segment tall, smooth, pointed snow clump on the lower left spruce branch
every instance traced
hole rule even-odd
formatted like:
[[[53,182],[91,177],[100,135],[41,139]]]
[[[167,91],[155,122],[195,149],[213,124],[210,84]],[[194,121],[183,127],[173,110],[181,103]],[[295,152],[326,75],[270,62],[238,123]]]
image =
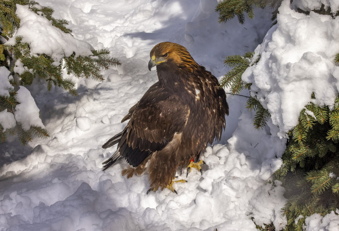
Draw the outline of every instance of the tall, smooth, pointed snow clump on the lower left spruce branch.
[[[31,126],[45,128],[39,118],[39,108],[27,88],[20,86],[15,99],[20,104],[15,106],[14,117],[24,130],[29,130]]]

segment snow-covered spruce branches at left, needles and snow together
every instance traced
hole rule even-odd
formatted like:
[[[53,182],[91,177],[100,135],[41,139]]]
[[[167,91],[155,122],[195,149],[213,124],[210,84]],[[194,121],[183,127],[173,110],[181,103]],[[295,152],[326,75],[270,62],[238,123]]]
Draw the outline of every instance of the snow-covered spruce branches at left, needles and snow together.
[[[55,19],[53,12],[51,7],[35,1],[0,2],[0,84],[3,85],[0,142],[6,141],[6,134],[17,134],[21,144],[27,144],[34,136],[49,137],[33,97],[23,87],[32,85],[36,77],[46,81],[48,90],[57,86],[77,95],[75,82],[71,76],[65,77],[66,74],[101,82],[104,80],[102,70],[121,65],[119,59],[109,56],[107,49],[97,51],[75,39],[70,34],[72,30],[66,27],[68,21]],[[18,95],[19,86],[21,93]],[[26,110],[32,107],[35,113],[26,114],[25,118]]]

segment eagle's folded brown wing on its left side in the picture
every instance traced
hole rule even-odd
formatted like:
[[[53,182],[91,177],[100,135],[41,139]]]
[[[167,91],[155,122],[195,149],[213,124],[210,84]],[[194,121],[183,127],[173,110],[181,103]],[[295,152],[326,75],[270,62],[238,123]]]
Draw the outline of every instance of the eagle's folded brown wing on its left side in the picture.
[[[176,132],[183,130],[190,108],[180,102],[178,95],[166,92],[157,83],[129,112],[130,120],[122,132],[119,152],[136,167],[153,152],[164,148]]]

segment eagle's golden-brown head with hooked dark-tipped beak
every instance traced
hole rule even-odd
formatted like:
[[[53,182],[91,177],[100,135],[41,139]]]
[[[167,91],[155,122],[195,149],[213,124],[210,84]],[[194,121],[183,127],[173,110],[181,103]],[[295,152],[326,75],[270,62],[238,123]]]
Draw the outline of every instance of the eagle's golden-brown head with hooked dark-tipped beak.
[[[200,67],[185,47],[174,42],[158,43],[154,46],[149,55],[151,56],[151,59],[148,62],[148,70],[151,70],[154,66],[176,66],[190,71]]]

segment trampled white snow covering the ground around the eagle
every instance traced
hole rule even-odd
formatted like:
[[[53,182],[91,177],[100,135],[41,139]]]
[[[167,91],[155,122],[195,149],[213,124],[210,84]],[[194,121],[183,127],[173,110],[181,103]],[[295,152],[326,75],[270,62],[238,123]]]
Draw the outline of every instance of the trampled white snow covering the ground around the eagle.
[[[147,69],[153,46],[163,41],[179,43],[219,79],[227,72],[223,65],[225,56],[253,51],[263,41],[271,25],[269,9],[256,10],[254,20],[240,25],[236,19],[226,24],[217,22],[216,0],[39,2],[52,6],[55,18],[69,20],[76,39],[95,49],[108,48],[112,56],[121,59],[122,66],[106,71],[103,83],[74,78],[79,93],[76,97],[58,88],[48,92],[39,83],[27,87],[51,137],[35,138],[27,146],[20,146],[15,137],[9,137],[7,143],[0,145],[1,231],[214,231],[215,228],[256,231],[253,217],[258,225],[273,222],[277,229],[284,227],[286,220],[280,212],[285,202],[284,189],[278,181],[275,188],[264,183],[280,167],[279,157],[286,139],[276,136],[281,131],[272,121],[263,130],[253,128],[253,114],[244,107],[245,97],[227,95],[230,116],[226,118],[223,137],[201,156],[208,165],[203,166],[202,176],[193,170],[186,178],[186,170],[177,171],[179,179],[188,181],[174,185],[178,195],[167,189],[146,195],[147,174],[127,180],[120,174],[120,164],[101,171],[101,162],[115,151],[115,147],[103,150],[101,145],[123,129],[125,123],[120,123],[123,116],[157,81],[156,71]],[[283,7],[281,17],[291,15],[298,20],[319,17],[311,14],[301,18],[286,2]],[[338,19],[331,19],[336,21],[331,24],[328,17],[319,18],[317,28],[320,25],[322,30],[326,28],[321,27],[321,22],[329,21],[327,30],[338,25]],[[42,36],[43,28],[40,26]],[[271,28],[263,44],[269,43],[275,30],[279,33],[278,29],[279,25]],[[283,31],[283,26],[280,29]],[[323,36],[319,43],[331,44],[329,41],[334,37],[335,34]],[[284,38],[284,43],[292,41],[288,36]],[[63,46],[53,40],[36,38],[36,42],[41,43],[37,48],[53,51]],[[258,46],[256,51],[260,49],[269,54],[265,45]],[[307,65],[318,59],[334,58],[332,54],[323,54],[318,59],[310,53],[303,56],[309,51],[305,49],[297,50],[296,57],[303,57]],[[339,49],[331,52],[338,53]],[[298,65],[294,69],[304,70],[302,63]],[[338,73],[335,69],[331,66],[331,71]],[[257,81],[258,75],[252,77]],[[260,89],[260,81],[257,83]],[[274,82],[269,84],[273,86]],[[0,90],[6,93],[5,88]],[[271,92],[270,87],[265,90],[263,94]],[[21,91],[31,99],[25,88]],[[9,127],[13,126],[12,117],[0,112],[0,119],[11,122]],[[306,225],[308,231],[335,231],[338,216],[331,213],[322,218],[314,214],[306,219]]]

